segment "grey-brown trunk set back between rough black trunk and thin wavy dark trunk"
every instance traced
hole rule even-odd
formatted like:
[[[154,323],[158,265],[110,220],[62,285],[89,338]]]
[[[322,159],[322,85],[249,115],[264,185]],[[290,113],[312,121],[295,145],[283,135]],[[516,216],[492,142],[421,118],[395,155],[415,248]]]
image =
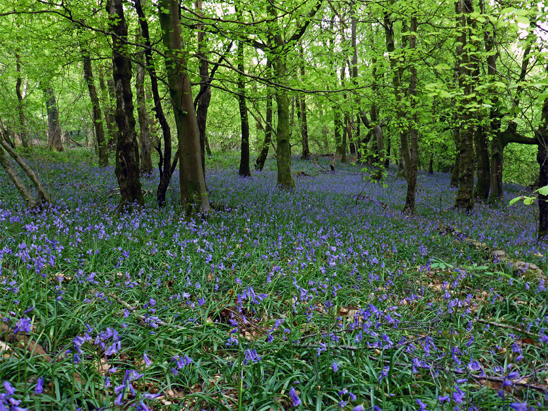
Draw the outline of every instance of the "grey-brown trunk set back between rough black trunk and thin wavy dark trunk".
[[[144,0],[136,0],[141,2],[141,6],[144,5]],[[140,42],[140,35],[136,36],[136,43]],[[135,76],[135,93],[137,100],[137,118],[139,119],[139,149],[141,152],[140,167],[141,173],[152,173],[152,158],[150,157],[150,130],[149,130],[149,113],[146,110],[145,99],[145,67],[143,63],[145,52],[139,50],[136,54],[137,67]]]

